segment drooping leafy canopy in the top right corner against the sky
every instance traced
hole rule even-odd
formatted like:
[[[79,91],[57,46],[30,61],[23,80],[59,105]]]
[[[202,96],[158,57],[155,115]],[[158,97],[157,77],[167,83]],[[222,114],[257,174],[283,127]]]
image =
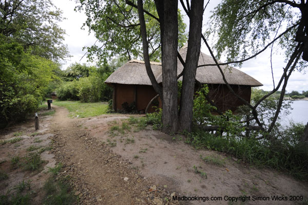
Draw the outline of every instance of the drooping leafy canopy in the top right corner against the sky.
[[[224,0],[213,11],[207,35],[214,34],[218,57],[225,54],[229,62],[258,53],[274,40],[288,58],[297,42],[303,42],[296,35],[307,32],[300,27],[307,21],[304,7],[304,1]],[[304,63],[299,61],[301,68]]]

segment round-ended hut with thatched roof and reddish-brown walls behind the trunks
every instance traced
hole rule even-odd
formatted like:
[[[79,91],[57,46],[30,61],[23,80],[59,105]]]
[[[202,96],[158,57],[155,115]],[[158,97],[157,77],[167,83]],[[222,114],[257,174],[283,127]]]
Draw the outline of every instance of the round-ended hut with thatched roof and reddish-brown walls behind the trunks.
[[[186,59],[187,46],[180,49],[183,60]],[[162,66],[158,62],[150,62],[153,74],[162,83]],[[204,53],[200,53],[199,65],[215,64],[213,58]],[[233,87],[238,95],[246,101],[250,101],[251,87],[262,86],[262,84],[248,74],[230,67],[221,66],[227,82]],[[183,70],[183,65],[178,61],[178,74]],[[217,66],[198,67],[196,79],[209,86],[209,97],[216,103],[222,111],[232,109],[233,111],[243,103],[239,101],[226,87],[222,75]],[[182,80],[181,78],[179,80]],[[113,108],[122,109],[122,104],[127,102],[136,103],[138,111],[145,110],[147,103],[156,96],[156,92],[151,86],[143,61],[131,60],[115,70],[105,83],[113,86]],[[156,105],[161,106],[160,101]],[[150,110],[150,111],[153,111]]]

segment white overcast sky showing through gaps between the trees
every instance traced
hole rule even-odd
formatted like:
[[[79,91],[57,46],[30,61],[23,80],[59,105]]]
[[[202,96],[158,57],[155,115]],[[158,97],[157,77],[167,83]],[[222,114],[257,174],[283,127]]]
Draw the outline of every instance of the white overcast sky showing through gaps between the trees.
[[[87,62],[86,56],[83,57],[86,51],[83,51],[82,48],[84,46],[91,46],[95,43],[96,38],[93,33],[88,32],[87,27],[82,30],[81,27],[83,23],[86,21],[86,15],[84,13],[75,12],[74,8],[76,3],[74,1],[69,0],[52,0],[54,5],[57,8],[60,8],[63,11],[63,17],[66,19],[63,22],[60,22],[59,25],[66,30],[65,41],[64,44],[67,44],[68,49],[70,51],[71,58],[66,59],[63,62],[62,69],[66,69],[72,63],[87,63],[92,64],[91,62]],[[220,1],[211,1],[207,6],[204,16],[203,16],[203,24],[205,23],[210,16],[210,10],[213,10]],[[179,4],[179,8],[181,10],[182,7]],[[184,16],[184,22],[187,24],[186,31],[188,32],[189,20],[187,16]],[[201,51],[209,54],[204,45],[201,47]],[[83,57],[83,58],[82,58]],[[275,85],[277,85],[282,69],[285,66],[284,56],[283,55],[273,55],[273,72],[274,72],[274,80]],[[260,87],[263,90],[272,90],[273,89],[273,79],[271,73],[271,64],[269,62],[269,51],[265,51],[260,54],[257,58],[251,59],[245,62],[241,68],[241,71],[249,74],[259,82],[263,84]],[[308,80],[307,74],[295,71],[292,73],[288,85],[286,87],[287,92],[291,92],[292,90],[302,91],[308,90]]]

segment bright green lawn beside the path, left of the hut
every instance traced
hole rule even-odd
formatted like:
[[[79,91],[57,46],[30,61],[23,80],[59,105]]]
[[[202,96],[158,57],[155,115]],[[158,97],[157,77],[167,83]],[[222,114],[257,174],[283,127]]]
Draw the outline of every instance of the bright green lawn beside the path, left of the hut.
[[[54,100],[53,104],[63,106],[70,112],[69,117],[86,118],[107,114],[108,104],[97,103],[81,103],[80,101],[58,101]]]

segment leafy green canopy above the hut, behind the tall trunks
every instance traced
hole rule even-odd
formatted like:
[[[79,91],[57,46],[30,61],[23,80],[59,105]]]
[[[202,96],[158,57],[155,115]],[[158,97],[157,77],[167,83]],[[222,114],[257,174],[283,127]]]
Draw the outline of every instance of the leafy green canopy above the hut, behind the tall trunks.
[[[123,0],[79,0],[80,5],[76,10],[85,10],[89,32],[94,32],[98,42],[102,45],[85,47],[88,58],[93,60],[96,55],[101,62],[113,57],[125,57],[127,60],[143,59],[140,24],[137,8],[130,6]],[[136,5],[136,2],[132,2]],[[158,18],[154,1],[146,0],[144,9]],[[147,41],[151,61],[160,61],[161,42],[160,25],[152,16],[145,13],[147,28]],[[179,47],[187,41],[185,34],[186,25],[178,11],[179,19]]]

